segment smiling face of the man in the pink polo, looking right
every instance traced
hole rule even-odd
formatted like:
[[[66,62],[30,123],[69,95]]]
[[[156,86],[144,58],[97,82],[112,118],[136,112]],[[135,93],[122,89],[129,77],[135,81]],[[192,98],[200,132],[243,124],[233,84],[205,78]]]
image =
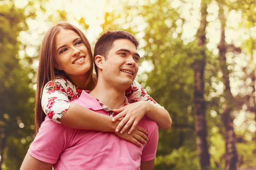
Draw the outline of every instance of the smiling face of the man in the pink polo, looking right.
[[[137,75],[139,59],[133,42],[127,39],[115,40],[102,65],[103,77],[112,84],[128,88]]]

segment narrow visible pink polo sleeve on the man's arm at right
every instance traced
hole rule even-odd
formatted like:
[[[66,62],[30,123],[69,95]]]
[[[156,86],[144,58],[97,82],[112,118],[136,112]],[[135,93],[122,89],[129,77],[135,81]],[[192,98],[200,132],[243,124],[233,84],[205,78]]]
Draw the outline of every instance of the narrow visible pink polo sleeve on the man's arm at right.
[[[141,161],[150,161],[156,157],[157,153],[157,144],[158,144],[158,126],[155,123],[154,131],[151,133],[151,136],[148,138],[146,146],[143,148]]]

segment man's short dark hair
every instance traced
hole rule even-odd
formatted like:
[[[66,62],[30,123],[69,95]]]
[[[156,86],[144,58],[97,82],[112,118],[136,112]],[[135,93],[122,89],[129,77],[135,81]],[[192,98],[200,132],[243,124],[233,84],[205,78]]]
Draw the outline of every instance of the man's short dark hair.
[[[113,48],[113,43],[115,40],[120,40],[120,39],[127,39],[130,40],[134,45],[136,46],[136,49],[139,46],[139,42],[136,40],[136,38],[126,32],[126,31],[108,31],[102,36],[99,37],[97,40],[95,47],[94,47],[94,53],[93,53],[93,60],[97,55],[101,55],[106,59],[108,59],[108,53]],[[96,71],[96,74],[98,74],[98,68],[97,65],[94,63],[94,68]]]

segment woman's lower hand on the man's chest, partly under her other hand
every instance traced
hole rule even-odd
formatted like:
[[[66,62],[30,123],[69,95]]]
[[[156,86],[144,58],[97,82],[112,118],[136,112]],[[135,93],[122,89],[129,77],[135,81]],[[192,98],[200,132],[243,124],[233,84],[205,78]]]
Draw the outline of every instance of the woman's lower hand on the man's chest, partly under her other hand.
[[[115,134],[120,138],[137,145],[138,147],[142,146],[141,143],[145,144],[148,141],[148,137],[146,136],[148,132],[142,127],[137,126],[131,134],[128,134],[127,131],[128,130],[122,134],[115,132]]]

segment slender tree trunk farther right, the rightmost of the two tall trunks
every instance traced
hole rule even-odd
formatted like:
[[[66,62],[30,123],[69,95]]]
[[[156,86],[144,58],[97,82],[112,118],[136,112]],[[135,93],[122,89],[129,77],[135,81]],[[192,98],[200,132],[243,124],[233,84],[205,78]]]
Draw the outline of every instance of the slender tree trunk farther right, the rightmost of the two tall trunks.
[[[226,19],[223,10],[223,1],[219,1],[219,18],[221,21],[221,40],[218,45],[219,63],[222,71],[222,81],[224,84],[225,102],[222,105],[222,121],[225,127],[225,170],[236,170],[237,152],[236,152],[236,134],[233,126],[233,102],[234,98],[230,91],[229,70],[226,63],[227,45],[225,42]]]

